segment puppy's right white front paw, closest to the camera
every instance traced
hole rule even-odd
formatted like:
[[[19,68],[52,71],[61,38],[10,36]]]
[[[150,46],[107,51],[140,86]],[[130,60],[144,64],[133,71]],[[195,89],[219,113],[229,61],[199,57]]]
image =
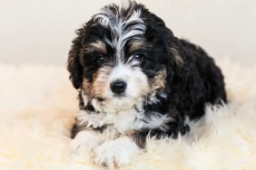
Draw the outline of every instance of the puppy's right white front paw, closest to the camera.
[[[129,137],[121,137],[97,146],[94,162],[96,165],[118,167],[129,164],[131,156],[138,151],[139,147]]]

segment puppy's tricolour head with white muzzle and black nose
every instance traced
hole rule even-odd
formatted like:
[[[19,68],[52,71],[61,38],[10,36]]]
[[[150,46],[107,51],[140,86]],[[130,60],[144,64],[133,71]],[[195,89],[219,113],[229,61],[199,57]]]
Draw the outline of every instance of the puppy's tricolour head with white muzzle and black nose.
[[[164,90],[170,63],[177,60],[172,32],[135,2],[105,6],[77,35],[67,62],[74,88],[116,109]]]

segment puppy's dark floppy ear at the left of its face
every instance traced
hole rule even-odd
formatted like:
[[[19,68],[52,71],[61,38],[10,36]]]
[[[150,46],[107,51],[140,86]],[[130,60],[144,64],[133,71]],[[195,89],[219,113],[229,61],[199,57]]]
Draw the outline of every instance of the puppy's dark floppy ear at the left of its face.
[[[81,35],[78,33],[78,37],[74,39],[71,50],[68,53],[67,61],[67,70],[70,72],[69,79],[72,81],[75,89],[81,87],[84,75],[84,69],[80,63],[81,48]]]

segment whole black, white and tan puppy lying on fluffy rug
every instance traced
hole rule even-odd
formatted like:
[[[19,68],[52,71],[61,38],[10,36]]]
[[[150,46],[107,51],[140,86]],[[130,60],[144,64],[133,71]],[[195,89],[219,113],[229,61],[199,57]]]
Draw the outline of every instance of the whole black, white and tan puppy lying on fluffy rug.
[[[74,150],[128,164],[146,137],[178,137],[206,103],[226,102],[222,71],[143,5],[107,5],[77,30],[67,69],[79,92]]]

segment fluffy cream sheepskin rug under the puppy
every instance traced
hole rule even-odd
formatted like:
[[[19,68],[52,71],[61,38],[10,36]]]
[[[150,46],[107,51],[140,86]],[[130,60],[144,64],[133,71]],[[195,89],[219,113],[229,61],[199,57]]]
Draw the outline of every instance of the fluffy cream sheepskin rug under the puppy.
[[[186,137],[148,139],[123,169],[256,168],[256,67],[218,63],[230,103],[206,107]],[[78,101],[64,67],[0,64],[0,80],[1,170],[99,168],[71,153]]]

